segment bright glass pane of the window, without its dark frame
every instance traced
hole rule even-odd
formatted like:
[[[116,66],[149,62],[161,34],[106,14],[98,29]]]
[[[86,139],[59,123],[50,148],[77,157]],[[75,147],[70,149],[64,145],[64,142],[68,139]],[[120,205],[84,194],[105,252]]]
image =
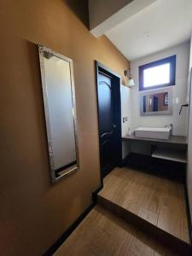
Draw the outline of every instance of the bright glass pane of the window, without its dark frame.
[[[168,83],[170,83],[170,63],[143,70],[144,87]]]

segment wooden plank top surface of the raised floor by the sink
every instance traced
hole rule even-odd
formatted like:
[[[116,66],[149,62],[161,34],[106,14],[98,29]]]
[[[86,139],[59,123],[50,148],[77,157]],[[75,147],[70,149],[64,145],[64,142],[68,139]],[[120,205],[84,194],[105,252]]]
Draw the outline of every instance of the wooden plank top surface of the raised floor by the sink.
[[[145,172],[115,168],[104,178],[99,195],[189,243],[183,184]]]

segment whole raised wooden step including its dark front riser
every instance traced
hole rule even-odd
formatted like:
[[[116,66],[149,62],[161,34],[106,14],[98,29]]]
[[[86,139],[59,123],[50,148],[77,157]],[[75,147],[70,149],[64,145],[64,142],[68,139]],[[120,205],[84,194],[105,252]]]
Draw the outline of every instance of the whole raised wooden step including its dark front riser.
[[[115,168],[97,195],[102,207],[137,225],[164,244],[188,253],[189,224],[182,183],[164,177]]]

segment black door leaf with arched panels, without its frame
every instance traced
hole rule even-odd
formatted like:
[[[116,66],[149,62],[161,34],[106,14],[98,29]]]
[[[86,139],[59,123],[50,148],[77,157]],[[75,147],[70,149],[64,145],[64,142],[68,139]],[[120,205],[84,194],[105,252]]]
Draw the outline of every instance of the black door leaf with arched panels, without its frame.
[[[115,166],[115,113],[112,79],[98,74],[99,139],[102,175]]]

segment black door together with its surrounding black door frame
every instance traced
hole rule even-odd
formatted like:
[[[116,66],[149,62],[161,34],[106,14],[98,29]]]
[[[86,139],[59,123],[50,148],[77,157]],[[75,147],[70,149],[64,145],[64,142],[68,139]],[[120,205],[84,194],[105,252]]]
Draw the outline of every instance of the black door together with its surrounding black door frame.
[[[104,177],[115,166],[119,166],[120,98],[119,79],[112,73],[104,73],[102,68],[99,69],[97,73],[99,143],[102,177]]]

